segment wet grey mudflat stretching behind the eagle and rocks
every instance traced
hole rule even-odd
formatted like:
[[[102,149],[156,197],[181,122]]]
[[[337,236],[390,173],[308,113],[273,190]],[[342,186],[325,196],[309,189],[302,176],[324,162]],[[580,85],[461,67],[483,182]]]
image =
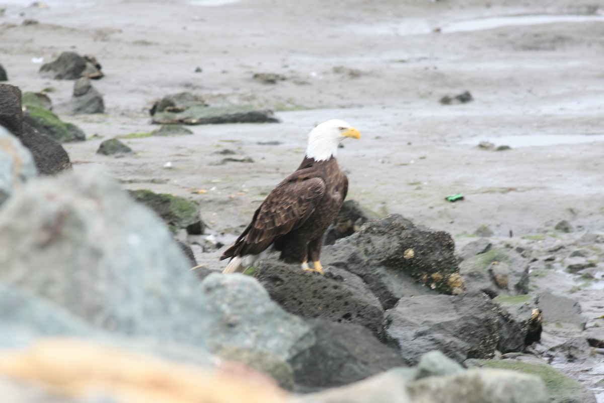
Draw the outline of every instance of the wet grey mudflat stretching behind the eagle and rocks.
[[[604,230],[604,6],[594,1],[346,2],[0,0],[0,63],[23,91],[63,51],[93,54],[107,113],[62,116],[74,169],[100,164],[129,189],[187,196],[216,233],[236,234],[301,161],[306,133],[330,118],[362,133],[338,160],[349,198],[400,213],[463,243],[496,236]],[[25,19],[37,25],[21,25]],[[196,68],[201,73],[195,73]],[[274,85],[254,73],[286,77]],[[470,91],[474,102],[444,106]],[[273,108],[279,124],[191,126],[194,134],[124,140],[136,155],[96,155],[102,140],[155,129],[148,109],[191,91],[211,105]],[[477,147],[489,140],[510,150]],[[259,144],[279,142],[278,145]],[[231,149],[254,163],[226,163]],[[167,169],[164,164],[172,163]],[[206,193],[193,193],[205,190]],[[445,196],[463,193],[455,204]],[[219,267],[212,259],[208,266]]]

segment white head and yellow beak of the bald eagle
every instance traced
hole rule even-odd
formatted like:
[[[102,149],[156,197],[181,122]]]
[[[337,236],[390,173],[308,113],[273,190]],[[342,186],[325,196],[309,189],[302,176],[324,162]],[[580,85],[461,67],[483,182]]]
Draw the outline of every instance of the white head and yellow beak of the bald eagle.
[[[347,137],[361,138],[361,133],[344,120],[332,119],[319,124],[308,134],[306,156],[325,161],[335,156],[339,143]]]

